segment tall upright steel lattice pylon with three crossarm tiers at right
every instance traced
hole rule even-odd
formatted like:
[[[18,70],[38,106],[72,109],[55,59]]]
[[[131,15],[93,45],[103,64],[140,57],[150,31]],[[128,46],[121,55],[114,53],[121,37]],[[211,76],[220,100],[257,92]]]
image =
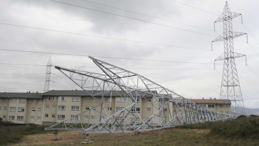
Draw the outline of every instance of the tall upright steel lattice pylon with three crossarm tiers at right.
[[[227,104],[220,106],[231,108],[233,113],[245,114],[243,97],[235,64],[235,58],[243,57],[245,55],[234,52],[233,38],[247,35],[247,33],[233,32],[232,29],[232,19],[240,15],[241,14],[231,12],[228,2],[226,2],[223,13],[214,22],[214,26],[217,22],[223,22],[223,33],[212,42],[224,41],[224,53],[215,59],[215,61],[224,60],[220,99],[226,99],[226,103],[227,100],[231,100],[231,107]]]

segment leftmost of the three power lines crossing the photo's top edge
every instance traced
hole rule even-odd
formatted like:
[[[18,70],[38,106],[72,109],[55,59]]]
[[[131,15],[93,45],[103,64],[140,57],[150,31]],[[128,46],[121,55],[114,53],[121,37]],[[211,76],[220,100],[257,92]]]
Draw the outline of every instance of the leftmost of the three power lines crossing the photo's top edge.
[[[202,33],[202,32],[195,32],[195,31],[188,30],[188,29],[182,29],[182,28],[173,27],[173,26],[164,25],[164,24],[155,23],[155,22],[150,22],[150,21],[146,21],[146,20],[142,20],[142,19],[127,17],[127,16],[123,16],[123,15],[119,15],[119,14],[105,12],[105,11],[101,11],[101,10],[97,10],[97,9],[91,9],[91,8],[87,8],[87,7],[83,7],[83,6],[78,6],[78,5],[74,5],[74,4],[68,4],[68,3],[65,3],[65,2],[61,2],[61,1],[54,1],[54,0],[49,0],[49,1],[57,2],[57,3],[60,3],[60,4],[66,4],[66,5],[70,5],[70,6],[76,6],[76,7],[79,7],[79,8],[88,9],[88,10],[92,10],[92,11],[96,11],[96,12],[111,14],[111,15],[114,15],[114,16],[124,17],[124,18],[132,19],[132,20],[142,21],[142,22],[146,22],[146,23],[150,23],[150,24],[155,24],[155,25],[160,25],[160,26],[164,26],[164,27],[170,27],[170,28],[174,28],[174,29],[179,29],[179,30],[183,30],[183,31],[187,31],[187,32],[193,32],[193,33],[197,33],[197,34],[200,34],[200,35],[207,35],[207,36],[211,36],[211,37],[216,37],[214,35],[209,35],[209,34],[205,34],[205,33]]]

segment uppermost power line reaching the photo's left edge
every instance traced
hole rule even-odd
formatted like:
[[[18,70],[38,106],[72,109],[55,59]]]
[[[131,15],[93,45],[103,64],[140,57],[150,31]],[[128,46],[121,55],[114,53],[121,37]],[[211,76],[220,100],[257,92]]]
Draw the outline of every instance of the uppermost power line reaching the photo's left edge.
[[[119,40],[119,41],[127,41],[127,42],[137,42],[142,44],[151,44],[151,45],[161,45],[161,46],[167,46],[167,47],[178,47],[178,48],[186,48],[186,49],[195,49],[195,50],[206,50],[210,51],[211,49],[200,49],[200,48],[192,48],[192,47],[182,47],[177,45],[167,45],[167,44],[160,44],[160,43],[152,43],[152,42],[143,42],[143,41],[137,41],[137,40],[127,40],[127,39],[119,39],[114,37],[103,37],[99,35],[89,35],[89,34],[83,34],[83,33],[75,33],[75,32],[66,32],[66,31],[60,31],[60,30],[54,30],[54,29],[45,29],[45,28],[38,28],[38,27],[29,27],[24,25],[16,25],[16,24],[8,24],[8,23],[0,23],[3,25],[9,25],[9,26],[16,26],[16,27],[25,27],[25,28],[31,28],[31,29],[39,29],[39,30],[47,30],[52,32],[61,32],[61,33],[67,33],[67,34],[73,34],[73,35],[83,35],[83,36],[89,36],[89,37],[99,37],[104,39],[110,39],[110,40]],[[80,55],[78,55],[80,56]]]

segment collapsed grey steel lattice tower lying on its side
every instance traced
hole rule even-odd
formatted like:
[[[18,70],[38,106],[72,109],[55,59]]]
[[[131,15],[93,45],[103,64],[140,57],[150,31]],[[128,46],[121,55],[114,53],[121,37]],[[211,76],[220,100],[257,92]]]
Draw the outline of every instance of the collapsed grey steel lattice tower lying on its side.
[[[144,76],[93,57],[89,58],[104,74],[58,66],[55,68],[94,99],[95,106],[71,115],[45,130],[83,130],[87,133],[141,132],[237,117],[208,111]],[[115,95],[124,105],[118,109],[116,107],[116,111],[111,111],[109,107]],[[142,107],[142,101],[148,101],[152,106],[152,114],[142,115],[138,110]],[[86,116],[93,117],[94,123],[90,123],[89,118],[84,118]]]

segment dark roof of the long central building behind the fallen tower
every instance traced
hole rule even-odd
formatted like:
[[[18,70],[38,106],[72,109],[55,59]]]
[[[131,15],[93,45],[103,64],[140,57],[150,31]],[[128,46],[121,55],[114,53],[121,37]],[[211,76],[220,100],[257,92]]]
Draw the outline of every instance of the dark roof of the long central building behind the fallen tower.
[[[87,93],[88,92],[88,93]],[[51,90],[48,92],[43,93],[43,96],[90,96],[90,94],[93,94],[95,96],[102,96],[102,91],[83,91],[83,90]],[[152,91],[153,93],[156,93],[155,91]],[[90,93],[90,94],[89,94]],[[110,96],[111,91],[104,91],[104,96]],[[135,95],[135,92],[131,92],[132,95]],[[124,96],[124,92],[119,90],[119,91],[112,91],[112,96]],[[144,95],[144,93],[139,92],[139,95]],[[147,94],[148,95],[148,94]]]

